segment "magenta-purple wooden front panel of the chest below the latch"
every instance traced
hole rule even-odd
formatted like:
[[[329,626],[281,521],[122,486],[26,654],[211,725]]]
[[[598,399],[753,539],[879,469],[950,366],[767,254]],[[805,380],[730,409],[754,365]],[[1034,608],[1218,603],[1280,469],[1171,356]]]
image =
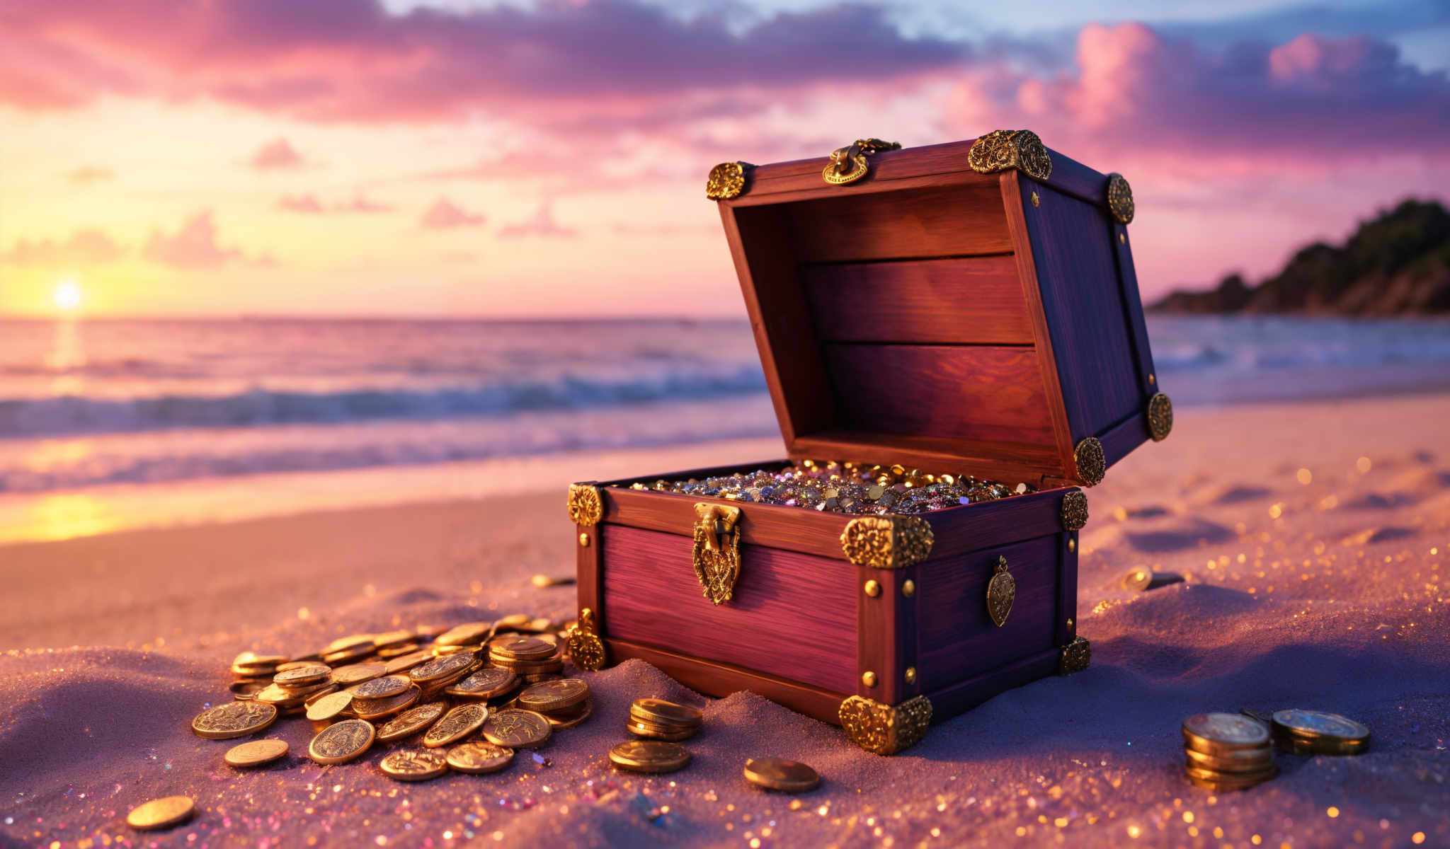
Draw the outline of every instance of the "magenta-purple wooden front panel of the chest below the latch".
[[[690,538],[618,524],[602,536],[612,637],[856,691],[857,587],[842,561],[741,545],[734,598],[715,606],[695,578]]]

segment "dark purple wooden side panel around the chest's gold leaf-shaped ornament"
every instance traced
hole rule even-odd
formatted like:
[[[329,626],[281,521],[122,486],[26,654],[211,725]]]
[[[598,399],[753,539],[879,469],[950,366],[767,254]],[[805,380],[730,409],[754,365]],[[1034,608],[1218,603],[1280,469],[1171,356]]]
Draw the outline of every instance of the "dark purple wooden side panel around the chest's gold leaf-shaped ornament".
[[[1057,645],[1058,536],[918,565],[918,674],[928,693]],[[987,616],[987,581],[1005,556],[1016,601],[1002,627]]]

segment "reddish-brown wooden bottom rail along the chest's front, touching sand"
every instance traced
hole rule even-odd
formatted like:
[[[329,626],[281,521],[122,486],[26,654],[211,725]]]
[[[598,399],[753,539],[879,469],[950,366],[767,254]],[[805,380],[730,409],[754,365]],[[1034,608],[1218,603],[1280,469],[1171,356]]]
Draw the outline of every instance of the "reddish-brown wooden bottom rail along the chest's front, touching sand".
[[[753,669],[742,669],[729,664],[712,664],[629,640],[609,639],[605,642],[609,648],[609,659],[613,664],[638,658],[657,666],[666,675],[690,690],[706,695],[725,697],[731,693],[748,690],[824,723],[841,724],[840,710],[841,703],[845,701],[845,695],[840,693],[806,687],[796,681],[766,675]]]

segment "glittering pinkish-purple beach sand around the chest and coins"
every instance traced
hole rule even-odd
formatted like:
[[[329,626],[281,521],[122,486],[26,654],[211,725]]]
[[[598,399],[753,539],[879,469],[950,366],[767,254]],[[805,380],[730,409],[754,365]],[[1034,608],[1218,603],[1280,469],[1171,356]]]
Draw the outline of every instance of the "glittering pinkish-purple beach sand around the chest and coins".
[[[1180,410],[1089,491],[1077,632],[1092,666],[1005,693],[895,758],[753,694],[695,695],[631,661],[594,714],[499,775],[396,784],[365,759],[238,772],[190,719],[242,649],[513,611],[568,617],[563,493],[370,507],[0,548],[0,835],[22,846],[1427,846],[1450,845],[1450,396]],[[703,456],[703,452],[702,452]],[[664,468],[639,468],[657,474]],[[592,477],[580,468],[579,478]],[[265,497],[264,491],[258,497]],[[1125,572],[1180,572],[1135,593]],[[613,772],[632,698],[700,706],[695,762]],[[1280,755],[1214,795],[1180,775],[1192,713],[1311,707],[1367,755]],[[822,787],[753,790],[747,756]],[[196,819],[125,826],[186,794]],[[799,804],[798,804],[799,803]],[[666,811],[667,813],[661,813]],[[758,840],[758,843],[757,843]]]

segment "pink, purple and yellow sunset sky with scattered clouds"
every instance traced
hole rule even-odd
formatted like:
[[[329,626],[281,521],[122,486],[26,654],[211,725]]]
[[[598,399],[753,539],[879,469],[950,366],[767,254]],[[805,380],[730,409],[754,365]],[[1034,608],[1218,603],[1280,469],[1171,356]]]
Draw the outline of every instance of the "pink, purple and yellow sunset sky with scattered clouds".
[[[1151,298],[1450,194],[1447,68],[1436,0],[4,0],[0,313],[740,314],[710,165],[998,127]]]

